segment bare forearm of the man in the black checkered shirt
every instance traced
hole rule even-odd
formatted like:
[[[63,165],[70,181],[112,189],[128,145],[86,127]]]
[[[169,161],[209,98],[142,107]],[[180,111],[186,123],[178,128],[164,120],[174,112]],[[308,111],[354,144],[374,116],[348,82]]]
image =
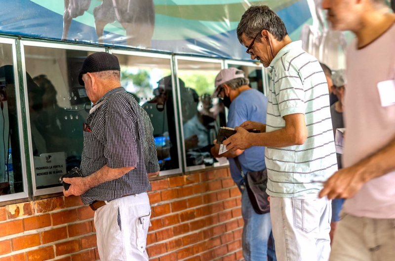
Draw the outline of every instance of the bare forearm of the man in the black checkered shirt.
[[[133,168],[134,167],[110,168],[104,165],[101,169],[86,177],[86,186],[88,189],[91,189],[104,182],[118,179]]]

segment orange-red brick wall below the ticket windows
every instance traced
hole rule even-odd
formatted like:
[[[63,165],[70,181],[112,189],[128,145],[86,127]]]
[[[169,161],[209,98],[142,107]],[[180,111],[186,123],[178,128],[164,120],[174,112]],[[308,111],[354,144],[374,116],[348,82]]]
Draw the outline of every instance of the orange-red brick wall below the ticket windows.
[[[151,261],[242,260],[241,197],[229,169],[151,184]],[[0,261],[99,260],[93,214],[79,197],[1,207]]]

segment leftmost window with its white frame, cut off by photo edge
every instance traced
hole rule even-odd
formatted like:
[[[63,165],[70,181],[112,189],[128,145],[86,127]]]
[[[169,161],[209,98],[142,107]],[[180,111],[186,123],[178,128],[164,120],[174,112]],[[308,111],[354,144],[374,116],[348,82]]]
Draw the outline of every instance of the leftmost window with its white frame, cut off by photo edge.
[[[20,105],[15,40],[0,38],[0,201],[28,196]]]

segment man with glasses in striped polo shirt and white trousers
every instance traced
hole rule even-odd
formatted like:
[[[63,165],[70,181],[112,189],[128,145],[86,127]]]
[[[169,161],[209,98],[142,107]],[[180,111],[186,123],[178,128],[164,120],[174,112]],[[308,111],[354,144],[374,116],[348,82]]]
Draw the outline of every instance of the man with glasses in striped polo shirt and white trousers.
[[[267,5],[244,13],[237,36],[252,60],[270,66],[272,83],[266,125],[247,121],[224,144],[233,150],[266,146],[277,260],[327,261],[331,203],[318,197],[319,181],[337,170],[337,162],[325,74]]]

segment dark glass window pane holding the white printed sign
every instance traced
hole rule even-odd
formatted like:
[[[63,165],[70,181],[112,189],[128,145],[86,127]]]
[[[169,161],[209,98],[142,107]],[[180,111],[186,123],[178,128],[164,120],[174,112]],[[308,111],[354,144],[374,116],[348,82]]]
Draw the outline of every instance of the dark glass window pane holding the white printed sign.
[[[93,52],[25,46],[30,127],[37,189],[61,186],[59,177],[79,167],[82,124],[91,102],[78,74]]]

